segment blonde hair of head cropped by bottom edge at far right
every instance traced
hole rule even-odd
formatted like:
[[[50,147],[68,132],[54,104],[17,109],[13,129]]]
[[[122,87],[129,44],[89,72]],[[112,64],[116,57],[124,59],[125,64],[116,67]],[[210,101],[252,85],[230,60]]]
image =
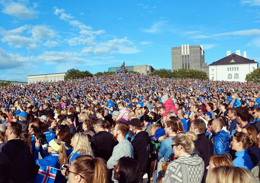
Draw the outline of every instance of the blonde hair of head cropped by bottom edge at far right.
[[[206,183],[256,183],[252,173],[245,168],[233,166],[214,167],[208,171]]]

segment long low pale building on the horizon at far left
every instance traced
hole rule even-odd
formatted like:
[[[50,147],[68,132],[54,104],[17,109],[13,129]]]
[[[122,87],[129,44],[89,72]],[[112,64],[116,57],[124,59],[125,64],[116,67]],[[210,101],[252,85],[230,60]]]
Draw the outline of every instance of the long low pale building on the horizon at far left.
[[[27,76],[28,84],[35,84],[37,82],[49,83],[49,82],[59,82],[64,80],[66,73],[56,73],[56,74],[42,74],[42,75],[31,75]]]

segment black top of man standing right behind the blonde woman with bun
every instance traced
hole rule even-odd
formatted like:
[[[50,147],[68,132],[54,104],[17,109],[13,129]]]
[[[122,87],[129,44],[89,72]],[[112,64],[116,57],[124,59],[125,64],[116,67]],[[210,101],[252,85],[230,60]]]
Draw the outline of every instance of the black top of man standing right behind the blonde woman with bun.
[[[205,164],[204,175],[207,174],[206,167],[209,166],[209,158],[213,155],[214,147],[208,138],[206,138],[205,134],[198,134],[198,139],[194,142],[195,144],[195,153],[198,154],[200,158],[203,159]]]

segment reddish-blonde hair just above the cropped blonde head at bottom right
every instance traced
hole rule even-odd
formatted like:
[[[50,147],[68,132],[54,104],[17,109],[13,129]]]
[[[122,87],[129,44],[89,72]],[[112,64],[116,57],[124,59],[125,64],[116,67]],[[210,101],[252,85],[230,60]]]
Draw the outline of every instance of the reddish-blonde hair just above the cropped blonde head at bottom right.
[[[209,158],[209,161],[212,161],[215,167],[219,166],[234,166],[230,154],[216,154]]]

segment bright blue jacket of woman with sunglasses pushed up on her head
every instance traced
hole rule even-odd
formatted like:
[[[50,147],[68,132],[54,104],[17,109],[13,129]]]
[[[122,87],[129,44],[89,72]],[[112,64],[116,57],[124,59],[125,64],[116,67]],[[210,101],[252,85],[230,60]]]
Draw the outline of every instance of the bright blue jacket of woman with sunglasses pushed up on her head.
[[[237,156],[233,160],[235,167],[247,168],[249,171],[251,171],[254,168],[251,158],[247,154],[247,149],[238,151],[235,153],[235,155]]]

